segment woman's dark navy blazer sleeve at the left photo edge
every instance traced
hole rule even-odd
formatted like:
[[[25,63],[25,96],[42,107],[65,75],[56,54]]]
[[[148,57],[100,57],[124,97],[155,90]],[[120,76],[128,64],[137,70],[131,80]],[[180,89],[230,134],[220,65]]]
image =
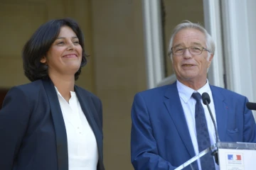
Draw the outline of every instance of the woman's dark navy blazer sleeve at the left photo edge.
[[[26,94],[18,87],[10,89],[0,110],[0,169],[13,169],[29,115]]]

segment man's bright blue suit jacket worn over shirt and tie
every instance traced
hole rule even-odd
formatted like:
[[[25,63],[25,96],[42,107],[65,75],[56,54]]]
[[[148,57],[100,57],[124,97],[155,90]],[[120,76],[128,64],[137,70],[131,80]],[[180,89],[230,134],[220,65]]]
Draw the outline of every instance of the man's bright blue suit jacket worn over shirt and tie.
[[[210,86],[220,141],[256,142],[247,98]],[[175,169],[196,154],[176,83],[142,91],[132,105],[131,157],[136,170]]]

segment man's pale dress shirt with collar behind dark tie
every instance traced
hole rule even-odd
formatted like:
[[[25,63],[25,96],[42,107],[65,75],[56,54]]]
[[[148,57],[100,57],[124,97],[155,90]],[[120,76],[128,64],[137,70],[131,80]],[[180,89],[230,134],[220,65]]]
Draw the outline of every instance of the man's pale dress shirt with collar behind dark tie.
[[[178,95],[181,99],[181,105],[185,114],[186,123],[188,125],[189,134],[191,135],[191,140],[193,143],[193,148],[195,150],[196,155],[199,154],[198,151],[198,142],[196,138],[196,120],[195,120],[195,107],[196,107],[196,100],[192,97],[193,92],[196,92],[195,90],[191,89],[188,86],[185,86],[180,81],[177,80],[177,89],[178,89]],[[213,113],[213,118],[216,122],[216,115],[215,115],[215,108],[214,108],[214,102],[213,102],[213,95],[210,91],[210,86],[208,83],[208,80],[206,84],[197,91],[199,94],[203,94],[203,92],[207,92],[210,96],[210,110]],[[213,121],[210,118],[210,113],[208,111],[208,108],[206,105],[203,104],[203,101],[201,100],[201,103],[203,105],[203,110],[206,114],[206,122],[208,126],[208,131],[210,135],[210,144],[213,145],[216,142],[216,136],[215,136],[215,129],[213,125]],[[217,125],[217,123],[216,123]],[[210,146],[209,146],[210,147]],[[201,164],[198,161],[199,169],[201,169]],[[219,167],[217,164],[215,164],[215,169],[218,170]]]

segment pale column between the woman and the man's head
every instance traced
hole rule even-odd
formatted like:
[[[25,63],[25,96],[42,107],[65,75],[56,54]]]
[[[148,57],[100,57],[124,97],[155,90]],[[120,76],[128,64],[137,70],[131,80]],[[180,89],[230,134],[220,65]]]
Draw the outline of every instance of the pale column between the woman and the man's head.
[[[159,0],[143,0],[144,42],[148,89],[164,79],[164,52]]]

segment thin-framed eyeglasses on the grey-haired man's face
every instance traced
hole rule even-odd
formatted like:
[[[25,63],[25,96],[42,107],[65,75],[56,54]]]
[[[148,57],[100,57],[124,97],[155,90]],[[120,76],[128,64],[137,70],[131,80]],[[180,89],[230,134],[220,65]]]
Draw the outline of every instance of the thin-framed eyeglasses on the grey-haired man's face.
[[[171,48],[171,53],[173,55],[183,55],[184,52],[188,49],[188,51],[191,53],[191,55],[201,55],[203,51],[208,51],[205,47],[196,47],[196,46],[191,46],[191,47],[172,47]]]

